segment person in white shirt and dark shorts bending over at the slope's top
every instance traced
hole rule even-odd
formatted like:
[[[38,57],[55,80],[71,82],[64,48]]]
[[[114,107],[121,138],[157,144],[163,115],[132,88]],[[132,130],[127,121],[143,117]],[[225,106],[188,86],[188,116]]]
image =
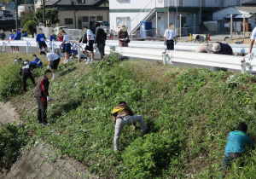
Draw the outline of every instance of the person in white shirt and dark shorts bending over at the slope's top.
[[[41,58],[47,58],[49,61],[47,69],[49,69],[49,67],[50,67],[53,72],[53,77],[51,80],[53,80],[54,78],[57,78],[56,69],[58,68],[58,65],[61,61],[60,57],[58,55],[56,55],[55,53],[47,53],[46,54],[44,51],[42,51],[40,53],[40,55],[41,55]]]

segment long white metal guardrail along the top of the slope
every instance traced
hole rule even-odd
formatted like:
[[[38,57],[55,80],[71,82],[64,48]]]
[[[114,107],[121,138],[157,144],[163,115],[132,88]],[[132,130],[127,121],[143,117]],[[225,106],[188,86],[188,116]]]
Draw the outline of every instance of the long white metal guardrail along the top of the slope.
[[[256,71],[256,61],[253,59],[245,59],[245,57],[235,56],[235,55],[213,55],[213,54],[203,54],[203,53],[194,53],[189,51],[176,51],[176,50],[167,50],[166,49],[152,49],[152,48],[143,48],[142,46],[147,45],[148,42],[131,42],[140,47],[119,47],[118,41],[108,41],[105,47],[105,53],[110,54],[111,51],[116,51],[121,55],[130,56],[134,58],[143,58],[149,60],[163,61],[163,63],[170,64],[172,62],[182,62],[202,66],[218,66],[231,68],[236,70],[241,70],[241,72],[251,72]],[[109,44],[110,43],[110,44]],[[113,45],[113,43],[117,43]],[[50,49],[55,52],[55,49],[59,49],[61,42],[47,42]],[[81,55],[81,48],[84,48],[85,44],[74,43],[78,48],[79,61]],[[162,43],[155,42],[154,45],[162,45]],[[182,46],[183,44],[176,45]],[[6,46],[26,46],[26,53],[29,53],[29,48],[38,47],[34,38],[24,38],[24,40],[19,41],[0,41],[0,46],[3,46],[3,52],[5,52]],[[184,46],[183,46],[184,47]],[[196,44],[190,44],[185,46],[185,48],[197,48]],[[241,45],[232,45],[235,49],[247,50],[242,48]],[[246,46],[247,47],[247,46]],[[242,48],[242,49],[241,49]],[[256,49],[255,51],[256,52]],[[218,56],[218,58],[217,58]]]

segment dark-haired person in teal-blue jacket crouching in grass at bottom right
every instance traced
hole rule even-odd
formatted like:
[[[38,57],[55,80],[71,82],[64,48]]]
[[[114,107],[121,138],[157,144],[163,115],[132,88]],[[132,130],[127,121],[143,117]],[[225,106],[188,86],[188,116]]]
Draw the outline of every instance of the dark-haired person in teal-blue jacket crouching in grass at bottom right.
[[[240,123],[238,124],[237,130],[230,132],[224,151],[222,171],[226,170],[234,159],[242,157],[243,153],[246,152],[247,145],[253,150],[255,149],[253,141],[247,136],[247,129],[247,124]]]

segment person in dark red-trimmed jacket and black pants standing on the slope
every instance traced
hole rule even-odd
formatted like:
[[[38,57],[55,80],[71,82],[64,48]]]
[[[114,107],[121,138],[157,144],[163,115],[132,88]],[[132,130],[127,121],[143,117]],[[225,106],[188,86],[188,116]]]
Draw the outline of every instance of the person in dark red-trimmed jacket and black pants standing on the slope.
[[[38,84],[35,91],[35,97],[38,101],[38,123],[47,125],[47,101],[50,101],[49,98],[49,78],[52,77],[52,72],[46,70],[44,76],[38,78]]]

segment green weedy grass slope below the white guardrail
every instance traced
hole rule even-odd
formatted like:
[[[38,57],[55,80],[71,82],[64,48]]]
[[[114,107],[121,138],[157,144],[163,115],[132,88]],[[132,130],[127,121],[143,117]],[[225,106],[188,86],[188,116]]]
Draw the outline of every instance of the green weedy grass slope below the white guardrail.
[[[255,78],[145,61],[107,65],[62,67],[49,87],[48,127],[36,123],[33,89],[12,98],[26,129],[106,178],[216,177],[226,137],[240,121],[255,141]],[[141,130],[125,126],[114,153],[110,113],[123,100],[151,132],[138,136]],[[233,165],[227,178],[253,178],[255,163],[248,152],[245,167]]]

